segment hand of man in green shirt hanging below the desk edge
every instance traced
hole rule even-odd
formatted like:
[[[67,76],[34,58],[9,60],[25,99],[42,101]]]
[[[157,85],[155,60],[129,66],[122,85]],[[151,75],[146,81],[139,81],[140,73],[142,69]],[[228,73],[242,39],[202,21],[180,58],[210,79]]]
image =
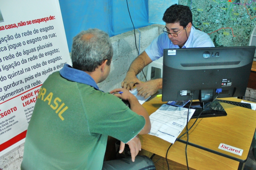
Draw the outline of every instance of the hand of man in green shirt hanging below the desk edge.
[[[129,148],[130,148],[130,152],[131,152],[131,156],[132,156],[132,162],[134,162],[135,157],[137,156],[139,151],[141,151],[140,138],[137,135],[134,138],[132,138],[132,140],[127,142],[127,144],[129,145]],[[124,145],[125,144],[121,141],[119,153],[122,153],[124,151]]]

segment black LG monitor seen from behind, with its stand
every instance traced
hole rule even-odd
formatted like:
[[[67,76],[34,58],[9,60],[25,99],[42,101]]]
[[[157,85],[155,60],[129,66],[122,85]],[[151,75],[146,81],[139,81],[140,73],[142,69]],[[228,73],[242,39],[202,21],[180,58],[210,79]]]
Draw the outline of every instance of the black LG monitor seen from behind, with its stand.
[[[162,101],[191,100],[193,94],[193,100],[199,100],[204,108],[217,96],[216,89],[221,89],[218,98],[244,96],[255,48],[164,49]],[[220,110],[212,109],[202,115],[218,116],[217,112]]]

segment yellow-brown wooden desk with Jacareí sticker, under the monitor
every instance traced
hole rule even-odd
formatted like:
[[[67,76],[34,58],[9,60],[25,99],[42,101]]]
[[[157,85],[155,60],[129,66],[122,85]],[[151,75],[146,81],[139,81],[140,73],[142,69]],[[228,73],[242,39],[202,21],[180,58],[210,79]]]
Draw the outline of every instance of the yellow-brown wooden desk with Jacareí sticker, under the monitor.
[[[149,115],[154,113],[162,104],[161,97],[155,97],[145,102]],[[224,100],[241,101],[236,98]],[[227,116],[200,118],[189,131],[187,148],[188,165],[194,169],[243,169],[256,128],[256,111],[221,103]],[[196,119],[188,122],[190,127]],[[181,134],[185,132],[185,129]],[[184,135],[182,140],[186,141]],[[165,158],[170,143],[151,135],[140,135],[142,149]],[[218,149],[220,143],[243,149],[242,156]],[[175,142],[168,152],[168,159],[186,165],[185,145]]]

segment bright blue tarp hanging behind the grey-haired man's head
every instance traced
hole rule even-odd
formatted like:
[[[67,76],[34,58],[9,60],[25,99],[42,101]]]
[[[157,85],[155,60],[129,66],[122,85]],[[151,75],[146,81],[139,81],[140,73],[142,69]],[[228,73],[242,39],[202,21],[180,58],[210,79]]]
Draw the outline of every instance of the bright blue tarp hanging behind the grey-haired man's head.
[[[71,50],[72,39],[82,30],[98,28],[114,36],[133,30],[132,22],[138,28],[151,25],[148,23],[148,1],[128,0],[60,0],[60,9],[68,49]]]

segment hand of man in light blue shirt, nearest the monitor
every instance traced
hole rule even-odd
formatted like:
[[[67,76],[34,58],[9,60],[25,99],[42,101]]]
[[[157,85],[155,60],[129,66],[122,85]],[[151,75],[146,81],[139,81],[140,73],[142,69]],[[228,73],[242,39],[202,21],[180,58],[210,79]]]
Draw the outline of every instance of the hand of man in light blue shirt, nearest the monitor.
[[[155,94],[158,89],[162,89],[162,78],[150,80],[145,83],[136,85],[139,96],[147,99],[149,96]]]

